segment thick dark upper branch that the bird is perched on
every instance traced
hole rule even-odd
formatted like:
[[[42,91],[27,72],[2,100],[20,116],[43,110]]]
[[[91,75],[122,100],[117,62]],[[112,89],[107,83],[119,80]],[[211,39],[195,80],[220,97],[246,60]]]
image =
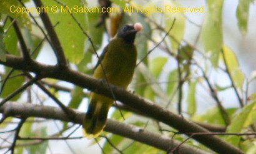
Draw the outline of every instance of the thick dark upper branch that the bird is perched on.
[[[94,79],[89,75],[82,74],[76,70],[71,70],[69,68],[59,69],[57,66],[44,65],[32,60],[31,65],[26,65],[26,62],[20,57],[15,57],[13,55],[6,55],[6,62],[0,60],[0,64],[7,65],[9,67],[14,67],[15,69],[21,69],[29,72],[34,72],[36,74],[41,74],[43,77],[50,77],[53,79],[64,80],[71,82],[72,84],[79,85],[86,89],[97,92],[98,94],[106,95],[112,98],[112,93],[106,83],[101,80]],[[141,97],[127,92],[125,89],[116,87],[112,84],[112,92],[117,100],[120,100],[124,104],[132,108],[137,108],[140,112],[145,113],[148,117],[154,118],[159,122],[163,122],[170,127],[174,127],[183,133],[209,133],[205,128],[199,127],[193,122],[185,120],[183,117],[176,115],[165,108],[156,105],[149,100],[144,100]],[[225,142],[216,136],[199,135],[193,137],[198,142],[204,144],[205,146],[211,148],[217,153],[244,153],[239,148],[234,147],[230,143]]]

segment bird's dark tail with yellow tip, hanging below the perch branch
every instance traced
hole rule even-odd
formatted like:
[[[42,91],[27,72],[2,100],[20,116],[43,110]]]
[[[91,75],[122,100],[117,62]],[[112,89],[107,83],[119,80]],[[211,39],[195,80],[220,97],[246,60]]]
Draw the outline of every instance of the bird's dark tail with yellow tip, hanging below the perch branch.
[[[100,135],[107,122],[107,113],[112,103],[91,100],[84,118],[84,135],[96,138]]]

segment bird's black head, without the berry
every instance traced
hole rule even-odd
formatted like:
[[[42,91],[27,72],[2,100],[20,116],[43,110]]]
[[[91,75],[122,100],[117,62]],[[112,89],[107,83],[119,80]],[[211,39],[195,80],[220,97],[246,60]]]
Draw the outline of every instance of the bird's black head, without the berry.
[[[134,26],[125,25],[119,30],[117,37],[124,39],[126,42],[133,43],[137,32]]]

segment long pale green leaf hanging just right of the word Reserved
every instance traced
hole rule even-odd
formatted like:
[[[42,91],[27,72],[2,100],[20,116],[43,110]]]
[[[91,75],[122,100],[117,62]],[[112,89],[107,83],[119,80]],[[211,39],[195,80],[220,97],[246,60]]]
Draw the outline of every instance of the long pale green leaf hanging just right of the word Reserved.
[[[202,39],[205,51],[210,52],[210,60],[214,67],[219,64],[219,54],[223,44],[222,34],[223,0],[209,0],[202,26]]]

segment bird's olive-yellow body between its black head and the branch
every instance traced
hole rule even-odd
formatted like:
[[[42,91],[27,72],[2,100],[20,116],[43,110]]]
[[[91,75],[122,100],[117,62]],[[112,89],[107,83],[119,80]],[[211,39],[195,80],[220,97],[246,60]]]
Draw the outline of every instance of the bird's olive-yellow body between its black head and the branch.
[[[106,47],[107,52],[94,71],[93,77],[105,79],[119,87],[127,88],[132,80],[137,59],[137,51],[133,43],[125,42],[121,38],[116,38]],[[106,50],[106,49],[105,49]]]

